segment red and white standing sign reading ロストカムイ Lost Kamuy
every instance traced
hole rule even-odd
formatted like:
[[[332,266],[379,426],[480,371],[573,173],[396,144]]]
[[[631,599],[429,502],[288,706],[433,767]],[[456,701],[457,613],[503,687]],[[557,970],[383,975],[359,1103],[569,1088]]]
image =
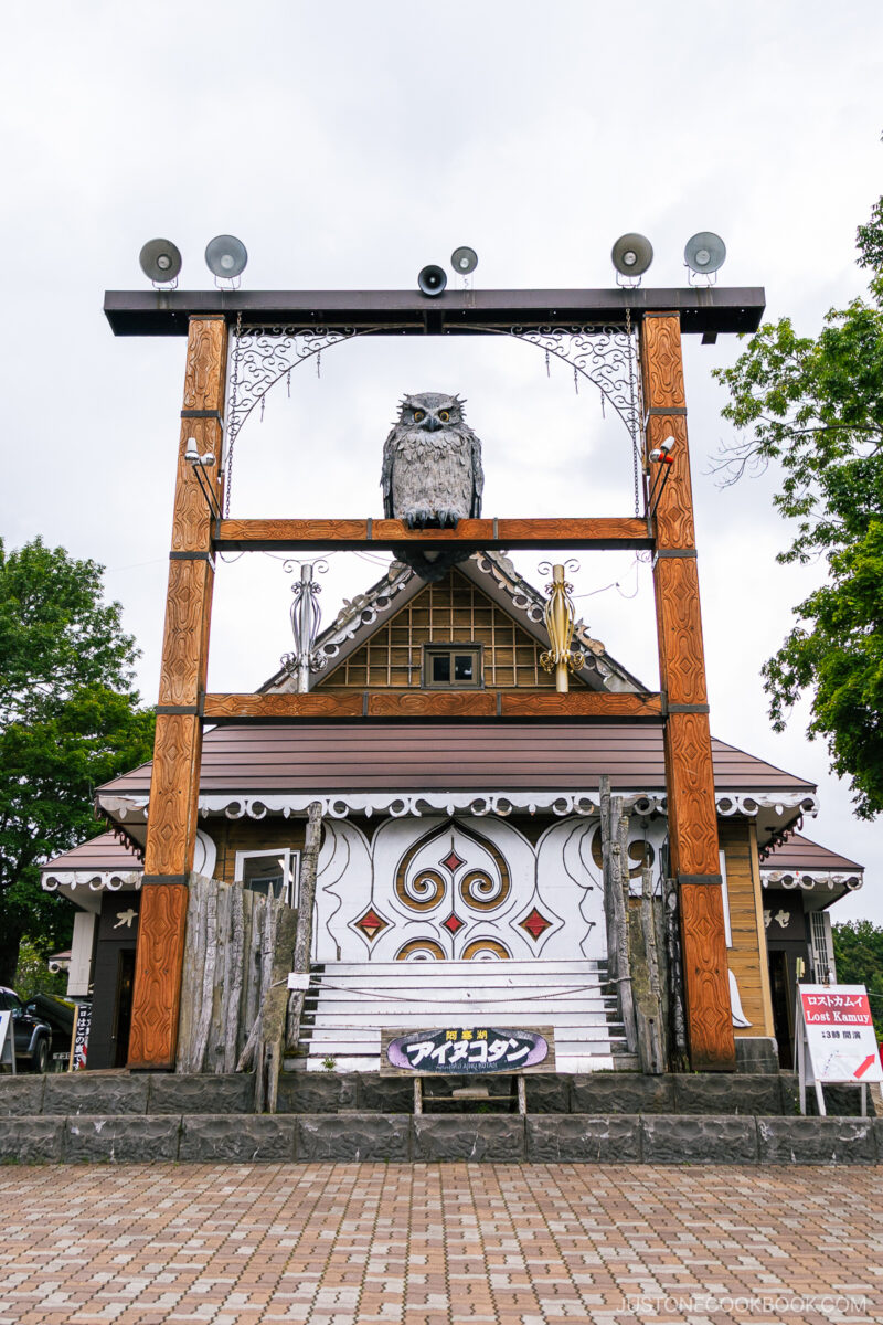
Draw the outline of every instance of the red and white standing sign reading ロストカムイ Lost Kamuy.
[[[800,984],[808,1081],[883,1081],[871,1004],[863,984]]]

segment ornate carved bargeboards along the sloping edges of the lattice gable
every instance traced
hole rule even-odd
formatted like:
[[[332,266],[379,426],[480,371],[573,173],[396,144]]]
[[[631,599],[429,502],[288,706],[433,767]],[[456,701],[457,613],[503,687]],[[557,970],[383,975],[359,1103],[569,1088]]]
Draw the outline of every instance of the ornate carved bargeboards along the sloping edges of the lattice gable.
[[[544,649],[549,647],[548,633],[543,623],[545,598],[502,553],[473,553],[458,562],[457,571],[471,580],[482,594],[496,603],[524,631],[537,640]],[[392,562],[389,570],[353,599],[346,599],[331,625],[316,639],[315,652],[323,660],[322,668],[310,677],[310,689],[320,685],[330,672],[351,653],[361,648],[371,636],[424,591],[426,582],[410,566]],[[612,659],[600,640],[592,639],[584,623],[577,621],[576,645],[585,655],[585,662],[577,674],[576,684],[585,684],[593,690],[614,690],[646,694],[645,686],[621,662]],[[297,689],[295,678],[281,668],[261,686],[262,693],[285,694]]]

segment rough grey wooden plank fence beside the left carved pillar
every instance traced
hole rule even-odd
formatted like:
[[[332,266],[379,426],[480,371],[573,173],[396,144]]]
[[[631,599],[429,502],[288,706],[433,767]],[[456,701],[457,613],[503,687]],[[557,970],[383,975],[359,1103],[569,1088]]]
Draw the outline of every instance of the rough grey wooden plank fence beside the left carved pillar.
[[[291,969],[294,924],[282,901],[191,874],[177,1072],[236,1071],[274,983],[274,962],[277,978],[279,966]]]

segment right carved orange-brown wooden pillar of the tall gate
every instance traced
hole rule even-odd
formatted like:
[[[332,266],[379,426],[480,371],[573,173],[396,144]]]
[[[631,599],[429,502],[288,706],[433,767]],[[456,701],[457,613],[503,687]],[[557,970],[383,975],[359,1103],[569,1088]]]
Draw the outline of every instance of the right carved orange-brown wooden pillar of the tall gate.
[[[647,449],[674,437],[670,466],[651,465],[654,590],[665,722],[670,871],[678,880],[690,1060],[694,1071],[732,1069],[735,1043],[711,765],[706,661],[699,611],[687,408],[676,313],[641,325]],[[665,470],[667,481],[662,488]],[[651,486],[653,493],[653,486]],[[651,506],[655,500],[651,496]]]

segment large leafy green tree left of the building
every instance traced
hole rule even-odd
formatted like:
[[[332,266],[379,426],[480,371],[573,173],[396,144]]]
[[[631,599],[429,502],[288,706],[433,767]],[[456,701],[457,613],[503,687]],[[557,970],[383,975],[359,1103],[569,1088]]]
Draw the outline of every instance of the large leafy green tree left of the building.
[[[102,570],[40,538],[0,541],[0,984],[24,937],[70,942],[73,910],[41,890],[38,865],[99,832],[94,788],[151,755],[138,649]]]

